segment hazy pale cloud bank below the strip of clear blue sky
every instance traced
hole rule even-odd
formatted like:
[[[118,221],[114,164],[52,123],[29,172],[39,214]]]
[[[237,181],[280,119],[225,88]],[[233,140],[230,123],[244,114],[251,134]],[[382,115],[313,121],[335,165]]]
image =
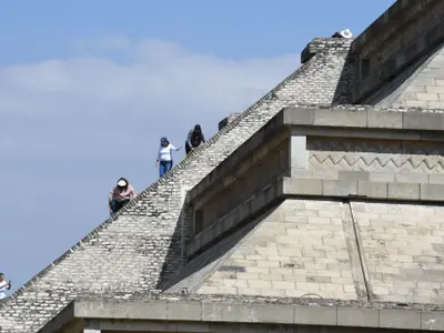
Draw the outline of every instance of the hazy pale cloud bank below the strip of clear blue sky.
[[[120,37],[75,47],[71,59],[0,67],[0,250],[17,285],[108,216],[119,176],[140,191],[157,178],[160,137],[182,145],[195,123],[210,137],[299,65],[297,54],[221,59]]]

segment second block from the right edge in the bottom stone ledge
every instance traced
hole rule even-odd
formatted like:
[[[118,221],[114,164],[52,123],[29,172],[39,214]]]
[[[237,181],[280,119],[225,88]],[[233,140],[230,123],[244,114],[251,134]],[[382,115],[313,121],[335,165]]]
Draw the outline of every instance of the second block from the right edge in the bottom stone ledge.
[[[421,312],[381,310],[380,326],[398,330],[421,330]]]

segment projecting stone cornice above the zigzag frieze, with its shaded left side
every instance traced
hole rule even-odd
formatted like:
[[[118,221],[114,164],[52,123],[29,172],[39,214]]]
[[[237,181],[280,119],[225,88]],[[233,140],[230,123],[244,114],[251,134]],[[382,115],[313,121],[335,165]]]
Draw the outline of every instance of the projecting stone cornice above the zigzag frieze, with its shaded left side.
[[[306,137],[444,141],[442,133],[437,132],[444,131],[444,112],[401,112],[372,107],[284,108],[191,189],[186,203],[190,204],[204,192],[229,182],[239,163],[258,153],[255,150],[264,145],[263,142],[271,143],[279,135],[282,135],[282,140],[290,135],[290,131],[285,131],[287,128],[292,129],[293,134]],[[272,147],[273,144],[264,145],[264,151]]]

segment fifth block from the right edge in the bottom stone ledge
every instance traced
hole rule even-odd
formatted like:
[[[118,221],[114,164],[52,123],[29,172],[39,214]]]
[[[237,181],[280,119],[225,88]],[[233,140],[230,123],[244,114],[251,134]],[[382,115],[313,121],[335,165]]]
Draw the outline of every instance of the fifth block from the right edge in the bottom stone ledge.
[[[286,304],[253,304],[251,321],[256,323],[292,324],[294,322],[294,305]]]

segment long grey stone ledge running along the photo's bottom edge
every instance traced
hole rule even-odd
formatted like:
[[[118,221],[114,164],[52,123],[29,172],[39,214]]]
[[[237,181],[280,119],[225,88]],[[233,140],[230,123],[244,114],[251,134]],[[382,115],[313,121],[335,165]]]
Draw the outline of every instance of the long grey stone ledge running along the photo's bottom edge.
[[[147,303],[134,301],[77,300],[70,305],[73,307],[71,319],[124,319],[169,322],[185,320],[188,322],[210,323],[273,323],[444,331],[443,311],[178,301],[158,300]],[[52,333],[54,331],[50,330],[50,326],[47,325],[40,332]]]

